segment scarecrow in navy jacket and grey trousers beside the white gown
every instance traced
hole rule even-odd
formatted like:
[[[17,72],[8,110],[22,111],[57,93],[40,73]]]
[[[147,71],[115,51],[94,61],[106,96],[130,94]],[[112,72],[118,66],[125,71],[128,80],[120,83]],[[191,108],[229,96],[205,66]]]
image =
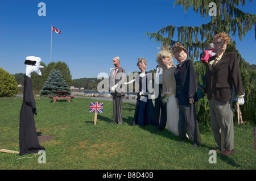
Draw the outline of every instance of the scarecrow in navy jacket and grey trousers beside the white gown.
[[[176,60],[180,63],[177,65],[174,72],[176,80],[176,94],[175,98],[177,106],[179,106],[179,136],[181,142],[187,140],[188,134],[193,147],[198,148],[199,142],[197,141],[196,129],[196,73],[193,69],[191,60],[187,60],[188,50],[183,47],[180,42],[177,42],[172,47],[172,52]]]

